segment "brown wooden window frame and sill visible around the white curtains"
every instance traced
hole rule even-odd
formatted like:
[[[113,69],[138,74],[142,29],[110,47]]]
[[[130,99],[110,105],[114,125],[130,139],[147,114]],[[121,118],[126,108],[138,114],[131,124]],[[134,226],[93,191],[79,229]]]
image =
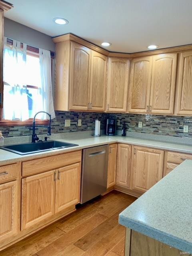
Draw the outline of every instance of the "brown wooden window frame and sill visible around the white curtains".
[[[13,44],[13,40],[10,38],[7,38],[7,44],[12,45]],[[22,47],[22,43],[21,43],[21,47]],[[34,56],[39,58],[39,49],[33,46],[29,46],[27,45],[27,54],[30,56]],[[51,71],[52,71],[52,59],[54,58],[54,52],[51,52]],[[30,84],[27,84],[27,87],[30,88],[35,88],[36,86],[32,86]],[[32,125],[33,124],[33,118],[29,118],[28,120],[25,121],[11,121],[11,120],[5,120],[2,118],[3,113],[2,113],[3,108],[0,108],[0,126],[27,126],[27,125]],[[49,120],[41,120],[41,119],[36,119],[36,124],[49,124]]]

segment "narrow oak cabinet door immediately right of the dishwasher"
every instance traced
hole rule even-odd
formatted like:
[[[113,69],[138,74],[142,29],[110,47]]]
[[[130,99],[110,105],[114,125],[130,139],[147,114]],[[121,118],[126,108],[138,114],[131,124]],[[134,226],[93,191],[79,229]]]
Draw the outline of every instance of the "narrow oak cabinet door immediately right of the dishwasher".
[[[112,144],[109,146],[107,188],[114,186],[116,183],[116,168],[117,144]]]

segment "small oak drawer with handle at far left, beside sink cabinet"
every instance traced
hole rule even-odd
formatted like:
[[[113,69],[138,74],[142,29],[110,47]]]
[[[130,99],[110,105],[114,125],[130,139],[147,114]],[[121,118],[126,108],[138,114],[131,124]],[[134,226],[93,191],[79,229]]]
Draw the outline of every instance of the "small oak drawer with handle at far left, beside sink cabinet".
[[[0,166],[0,183],[18,179],[19,171],[19,164]]]

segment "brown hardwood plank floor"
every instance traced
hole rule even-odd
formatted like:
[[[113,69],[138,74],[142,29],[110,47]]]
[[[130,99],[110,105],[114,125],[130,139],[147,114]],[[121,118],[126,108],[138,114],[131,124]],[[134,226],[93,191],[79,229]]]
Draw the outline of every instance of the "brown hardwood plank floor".
[[[136,198],[118,191],[77,206],[76,212],[0,252],[0,256],[123,256],[118,215]]]

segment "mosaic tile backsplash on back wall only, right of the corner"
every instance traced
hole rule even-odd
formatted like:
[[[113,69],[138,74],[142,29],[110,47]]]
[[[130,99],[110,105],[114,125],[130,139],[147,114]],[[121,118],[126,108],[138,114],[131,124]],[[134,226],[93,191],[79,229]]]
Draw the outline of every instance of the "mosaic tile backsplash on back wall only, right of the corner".
[[[176,137],[192,137],[191,116],[156,116],[142,114],[110,114],[110,118],[120,120],[117,130],[122,130],[125,121],[126,130],[129,132],[142,132],[148,134],[160,134]],[[138,122],[142,121],[142,128],[138,128]],[[183,125],[189,126],[188,133],[183,133]]]

